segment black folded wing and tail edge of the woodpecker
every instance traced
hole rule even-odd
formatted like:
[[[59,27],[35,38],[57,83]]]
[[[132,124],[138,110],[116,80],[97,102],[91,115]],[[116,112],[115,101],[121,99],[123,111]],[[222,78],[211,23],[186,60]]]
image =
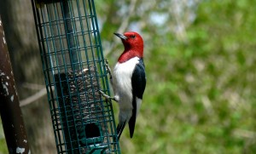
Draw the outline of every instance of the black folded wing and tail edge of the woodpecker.
[[[136,123],[137,116],[137,102],[136,98],[143,100],[143,93],[146,87],[146,73],[143,59],[139,60],[137,66],[132,73],[131,77],[131,88],[132,88],[132,116],[129,120],[130,137],[132,138]]]

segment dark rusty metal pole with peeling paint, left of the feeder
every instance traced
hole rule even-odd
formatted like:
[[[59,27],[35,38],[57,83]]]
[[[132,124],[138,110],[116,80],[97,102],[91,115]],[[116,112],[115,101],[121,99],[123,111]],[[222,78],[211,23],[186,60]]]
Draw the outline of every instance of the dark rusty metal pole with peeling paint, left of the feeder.
[[[0,16],[0,114],[9,153],[30,153]]]

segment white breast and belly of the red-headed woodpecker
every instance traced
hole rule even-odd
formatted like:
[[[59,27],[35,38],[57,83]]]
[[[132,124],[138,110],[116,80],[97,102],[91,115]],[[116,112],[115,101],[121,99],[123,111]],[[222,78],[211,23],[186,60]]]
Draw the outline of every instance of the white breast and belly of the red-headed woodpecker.
[[[132,109],[131,76],[138,60],[138,57],[134,57],[124,63],[118,62],[113,69],[113,91],[122,111]]]

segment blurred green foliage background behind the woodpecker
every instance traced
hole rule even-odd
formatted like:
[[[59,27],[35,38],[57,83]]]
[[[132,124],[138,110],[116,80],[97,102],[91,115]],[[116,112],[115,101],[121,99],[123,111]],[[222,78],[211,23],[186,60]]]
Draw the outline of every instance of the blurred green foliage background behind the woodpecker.
[[[129,16],[129,26],[141,26],[148,83],[134,137],[125,128],[120,139],[122,153],[256,153],[256,1],[196,3],[195,20],[186,24],[183,37],[172,31],[172,15],[162,26],[148,20],[150,12],[165,13],[166,2],[158,0],[140,14],[148,5],[139,1]],[[96,1],[104,51],[128,17],[122,10],[129,4]],[[113,66],[122,44],[111,49],[105,54]],[[3,142],[0,135],[0,153]]]

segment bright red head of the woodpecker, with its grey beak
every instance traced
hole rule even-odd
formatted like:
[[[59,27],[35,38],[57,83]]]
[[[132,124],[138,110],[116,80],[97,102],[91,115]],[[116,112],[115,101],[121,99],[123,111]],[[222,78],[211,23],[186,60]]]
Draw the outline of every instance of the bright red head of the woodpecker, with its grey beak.
[[[125,62],[133,57],[143,58],[143,37],[137,32],[127,31],[124,35],[114,33],[117,37],[121,38],[125,51],[119,57],[119,62]]]

